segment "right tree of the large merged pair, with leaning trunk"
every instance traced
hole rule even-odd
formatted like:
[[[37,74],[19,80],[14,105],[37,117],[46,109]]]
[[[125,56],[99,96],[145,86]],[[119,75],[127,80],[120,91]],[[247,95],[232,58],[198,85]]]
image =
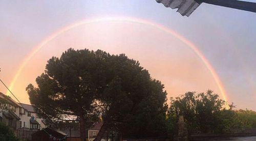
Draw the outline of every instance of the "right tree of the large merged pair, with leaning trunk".
[[[110,128],[126,137],[164,133],[167,105],[163,84],[124,54],[114,55],[108,62],[110,81],[98,99],[103,125],[95,140]]]

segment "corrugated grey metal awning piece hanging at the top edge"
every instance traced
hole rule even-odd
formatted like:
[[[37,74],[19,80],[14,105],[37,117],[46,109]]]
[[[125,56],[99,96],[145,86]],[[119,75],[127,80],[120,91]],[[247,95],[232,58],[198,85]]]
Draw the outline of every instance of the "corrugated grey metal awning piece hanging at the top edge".
[[[182,16],[189,16],[193,13],[201,3],[198,3],[194,0],[156,0],[157,3],[162,3],[165,7],[170,7],[172,9],[178,8],[177,12],[179,12]]]

